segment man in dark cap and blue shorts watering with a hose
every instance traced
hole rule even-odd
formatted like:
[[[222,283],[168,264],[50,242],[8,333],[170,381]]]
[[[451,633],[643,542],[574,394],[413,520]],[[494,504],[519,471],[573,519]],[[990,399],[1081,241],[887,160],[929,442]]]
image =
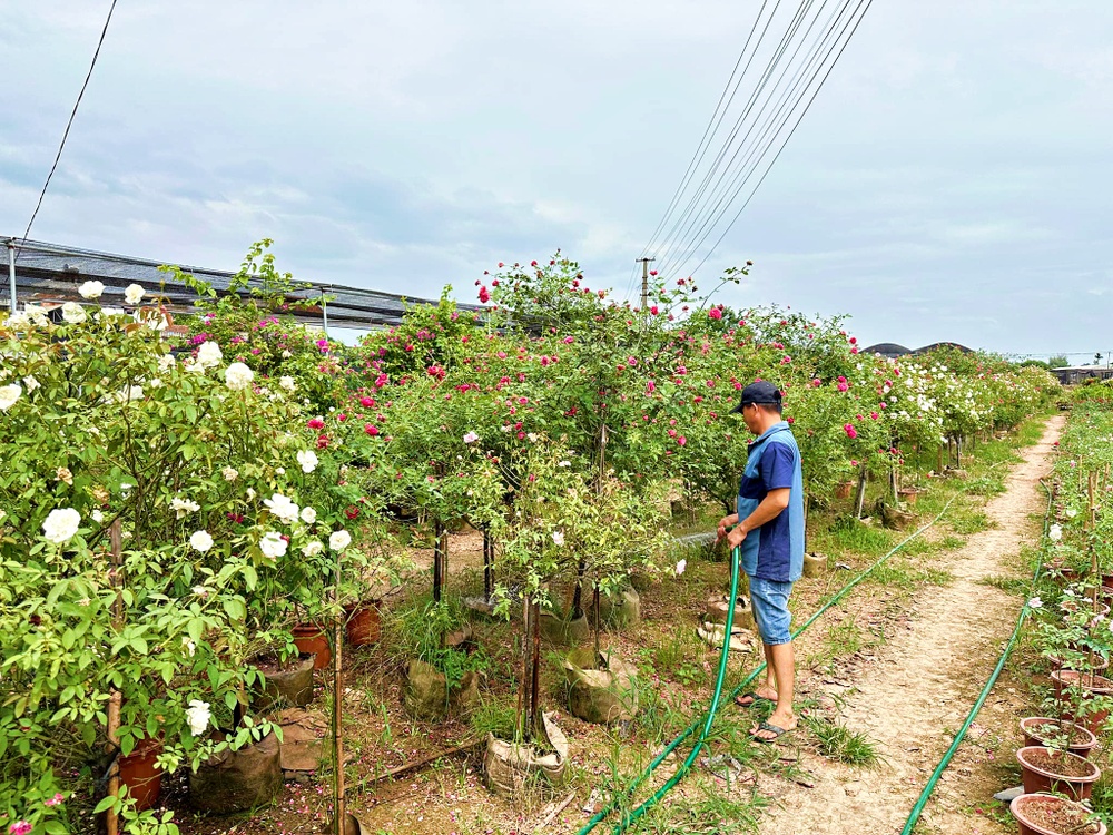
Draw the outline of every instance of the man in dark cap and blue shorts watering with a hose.
[[[776,703],[769,719],[750,729],[757,741],[771,743],[797,724],[788,597],[804,572],[804,478],[800,450],[781,420],[775,385],[759,381],[746,386],[741,403],[731,410],[738,413],[757,439],[750,442],[738,487],[738,512],[719,521],[718,537],[726,537],[731,549],[741,546],[741,570],[749,578],[754,619],[765,646],[765,684],[736,701],[741,707]]]

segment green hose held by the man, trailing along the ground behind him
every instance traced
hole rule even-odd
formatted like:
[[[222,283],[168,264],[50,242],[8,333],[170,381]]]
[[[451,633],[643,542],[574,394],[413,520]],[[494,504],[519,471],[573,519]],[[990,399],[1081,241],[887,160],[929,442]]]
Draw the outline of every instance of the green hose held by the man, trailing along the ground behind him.
[[[906,544],[908,544],[909,542],[912,542],[914,539],[916,539],[917,537],[919,537],[928,528],[930,528],[936,522],[938,522],[939,519],[943,518],[943,514],[946,513],[947,510],[951,509],[951,505],[954,503],[955,499],[957,499],[959,495],[963,495],[962,491],[959,491],[959,492],[955,493],[953,497],[951,497],[951,499],[947,501],[947,503],[943,505],[943,510],[940,510],[938,512],[938,514],[930,522],[926,523],[925,525],[923,525],[922,528],[919,528],[916,532],[914,532],[910,536],[908,536],[905,539],[903,539],[892,550],[889,550],[884,556],[879,557],[871,566],[869,566],[867,569],[865,569],[864,571],[861,571],[861,573],[859,573],[850,582],[848,582],[839,591],[837,591],[835,593],[835,596],[831,597],[830,600],[828,600],[826,603],[824,603],[810,618],[808,618],[795,632],[792,632],[792,638],[796,639],[797,637],[799,637],[808,627],[810,627],[814,622],[816,622],[816,620],[818,620],[819,617],[825,611],[827,611],[833,606],[835,606],[835,603],[837,603],[839,600],[841,600],[844,597],[846,597],[846,595],[855,586],[857,586],[859,582],[861,582],[863,580],[865,580],[866,577],[868,577],[869,573],[874,569],[876,569],[878,566],[880,566],[883,562],[885,562],[889,557],[892,557],[894,553],[896,553],[897,551],[899,551],[902,548],[904,548]],[[736,586],[737,579],[738,579],[737,578],[737,560],[733,559],[733,556],[732,556],[732,561],[733,561],[735,566],[732,566],[732,569],[731,569],[731,587],[732,587],[732,597],[731,597],[731,600],[733,600],[735,597],[737,597],[737,588],[733,588],[733,587]],[[733,607],[727,607],[727,611],[728,611],[728,617],[731,617],[733,615]],[[720,658],[720,661],[719,661],[719,668],[720,668],[720,670],[722,670],[725,668],[725,666],[726,666],[727,655],[729,654],[729,646],[730,646],[730,625],[728,623],[727,629],[723,632],[722,657]],[[754,670],[749,676],[747,676],[745,679],[742,679],[742,681],[727,696],[727,698],[729,700],[732,700],[746,687],[748,687],[750,684],[752,684],[752,681],[758,676],[761,675],[761,672],[765,670],[765,668],[766,668],[766,665],[762,661],[761,665],[756,670]],[[697,719],[691,725],[689,725],[687,728],[684,728],[676,739],[673,739],[671,743],[669,743],[664,747],[664,749],[661,750],[660,754],[658,754],[656,757],[653,757],[652,762],[650,762],[650,764],[649,764],[649,767],[646,768],[646,770],[642,772],[640,775],[638,775],[637,777],[634,777],[633,780],[630,783],[630,785],[627,786],[626,789],[621,793],[621,795],[615,795],[611,799],[611,802],[607,804],[607,806],[604,806],[600,812],[597,812],[592,816],[592,818],[590,821],[588,821],[587,824],[583,825],[583,827],[577,833],[577,835],[588,835],[589,832],[591,832],[592,829],[594,829],[603,821],[603,818],[605,818],[608,815],[610,815],[614,811],[614,808],[619,805],[619,803],[621,802],[622,798],[626,798],[630,794],[632,794],[638,788],[638,786],[640,786],[646,780],[646,778],[648,778],[654,770],[657,770],[658,766],[660,766],[661,763],[663,763],[666,760],[666,758],[670,754],[672,754],[672,752],[676,750],[677,747],[684,739],[687,739],[689,736],[692,735],[692,733],[695,733],[696,728],[699,727],[700,721],[705,721],[705,735],[701,736],[699,743],[696,745],[695,749],[692,750],[692,754],[689,755],[688,759],[684,760],[684,764],[681,765],[681,767],[677,769],[676,774],[673,774],[673,776],[661,788],[659,788],[657,792],[653,793],[652,797],[650,797],[649,799],[647,799],[644,803],[642,803],[641,805],[637,806],[636,808],[631,809],[629,813],[623,813],[622,821],[619,824],[615,825],[615,827],[614,827],[614,829],[612,832],[613,833],[624,832],[626,828],[628,826],[630,826],[630,824],[634,823],[642,815],[644,815],[650,809],[650,807],[652,807],[654,804],[657,804],[657,802],[660,800],[661,797],[663,797],[673,786],[676,786],[677,783],[680,782],[680,779],[684,776],[684,774],[687,774],[688,769],[691,767],[691,763],[695,762],[697,753],[700,750],[700,748],[702,747],[703,743],[706,741],[707,729],[710,728],[710,726],[711,726],[711,721],[715,718],[715,710],[718,708],[718,704],[719,704],[719,700],[720,700],[721,685],[722,685],[722,682],[721,682],[721,678],[720,678],[720,680],[717,682],[715,694],[711,697],[711,705],[712,705],[712,707],[711,707],[711,710],[707,714],[706,721],[702,718],[701,719]]]

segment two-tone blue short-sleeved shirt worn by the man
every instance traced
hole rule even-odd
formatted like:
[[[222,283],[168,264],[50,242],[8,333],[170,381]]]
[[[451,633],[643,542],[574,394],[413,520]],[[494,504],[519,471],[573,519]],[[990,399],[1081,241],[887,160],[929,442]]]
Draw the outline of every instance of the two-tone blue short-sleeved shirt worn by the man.
[[[738,484],[738,519],[746,519],[771,490],[789,489],[788,507],[746,534],[742,570],[750,577],[796,582],[804,573],[804,471],[800,449],[780,421],[750,442]]]

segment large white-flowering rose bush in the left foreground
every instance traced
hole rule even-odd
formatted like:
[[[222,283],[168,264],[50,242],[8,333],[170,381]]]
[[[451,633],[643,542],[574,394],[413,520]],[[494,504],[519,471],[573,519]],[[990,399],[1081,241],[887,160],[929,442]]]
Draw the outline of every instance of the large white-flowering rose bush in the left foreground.
[[[211,343],[176,361],[148,321],[78,308],[0,331],[19,387],[0,413],[0,809],[48,832],[66,807],[43,802],[102,776],[114,692],[120,752],[159,740],[167,769],[269,733],[233,729],[257,637],[242,520],[296,465],[280,442],[294,407]]]

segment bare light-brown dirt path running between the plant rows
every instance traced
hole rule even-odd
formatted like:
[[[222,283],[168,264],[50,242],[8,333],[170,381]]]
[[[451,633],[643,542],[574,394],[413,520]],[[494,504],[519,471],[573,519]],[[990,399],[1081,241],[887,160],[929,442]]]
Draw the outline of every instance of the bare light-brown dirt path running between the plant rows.
[[[761,833],[900,832],[1015,626],[1016,597],[979,580],[1013,576],[1008,557],[1035,542],[1038,529],[1031,517],[1045,505],[1037,482],[1050,470],[1063,423],[1050,421],[1040,443],[1022,451],[1024,461],[1012,470],[1006,492],[985,507],[994,527],[940,560],[955,581],[920,592],[908,628],[877,648],[855,688],[843,695],[847,726],[866,731],[885,764],[860,770],[802,753],[800,765],[815,777],[815,788],[777,786],[777,805],[762,816]],[[949,796],[954,770],[944,774],[917,832],[977,831],[963,804]]]

